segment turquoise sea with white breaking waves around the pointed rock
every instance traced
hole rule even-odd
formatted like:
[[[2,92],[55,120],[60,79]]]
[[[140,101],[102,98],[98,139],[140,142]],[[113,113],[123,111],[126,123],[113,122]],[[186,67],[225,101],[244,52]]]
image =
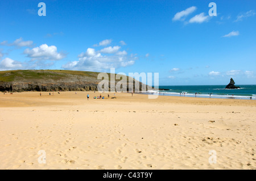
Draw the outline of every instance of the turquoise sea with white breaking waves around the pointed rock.
[[[214,86],[159,86],[159,91],[147,94],[188,96],[198,98],[252,99],[256,100],[256,85],[236,85],[240,89],[225,89],[226,85]],[[164,89],[164,90],[161,90]]]

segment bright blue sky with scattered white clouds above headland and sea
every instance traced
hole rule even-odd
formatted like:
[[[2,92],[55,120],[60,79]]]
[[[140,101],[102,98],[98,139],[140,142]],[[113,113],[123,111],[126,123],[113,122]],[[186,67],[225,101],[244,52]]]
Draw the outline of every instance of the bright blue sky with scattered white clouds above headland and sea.
[[[159,85],[256,84],[256,1],[9,0],[0,24],[0,70],[115,68],[159,73]]]

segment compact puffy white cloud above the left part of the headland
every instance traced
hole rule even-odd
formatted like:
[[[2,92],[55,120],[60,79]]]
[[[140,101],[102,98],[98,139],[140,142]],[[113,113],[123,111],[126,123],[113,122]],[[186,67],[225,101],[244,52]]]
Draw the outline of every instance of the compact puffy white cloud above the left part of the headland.
[[[31,60],[61,60],[65,57],[64,53],[58,53],[57,47],[42,44],[40,47],[33,49],[25,49],[24,54],[27,54]]]

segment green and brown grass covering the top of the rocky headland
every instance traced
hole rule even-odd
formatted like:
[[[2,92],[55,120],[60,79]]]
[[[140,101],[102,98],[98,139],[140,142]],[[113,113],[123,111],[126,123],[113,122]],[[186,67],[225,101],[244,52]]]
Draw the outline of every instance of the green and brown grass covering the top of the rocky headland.
[[[52,79],[59,80],[68,78],[71,75],[94,77],[97,79],[98,73],[93,71],[73,71],[73,70],[8,70],[0,71],[0,82],[12,82],[22,79]]]

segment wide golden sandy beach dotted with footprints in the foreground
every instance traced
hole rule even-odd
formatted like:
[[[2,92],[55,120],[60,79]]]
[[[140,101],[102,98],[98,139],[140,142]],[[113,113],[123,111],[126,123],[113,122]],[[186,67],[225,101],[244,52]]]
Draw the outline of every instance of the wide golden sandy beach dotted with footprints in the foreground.
[[[0,169],[256,169],[255,100],[101,94],[1,92]]]

